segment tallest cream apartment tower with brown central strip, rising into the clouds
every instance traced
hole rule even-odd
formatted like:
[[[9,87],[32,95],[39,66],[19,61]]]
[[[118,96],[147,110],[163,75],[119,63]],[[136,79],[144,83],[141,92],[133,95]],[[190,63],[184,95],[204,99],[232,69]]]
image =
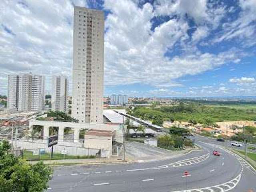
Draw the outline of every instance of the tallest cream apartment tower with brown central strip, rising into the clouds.
[[[74,6],[72,117],[103,123],[104,12]]]

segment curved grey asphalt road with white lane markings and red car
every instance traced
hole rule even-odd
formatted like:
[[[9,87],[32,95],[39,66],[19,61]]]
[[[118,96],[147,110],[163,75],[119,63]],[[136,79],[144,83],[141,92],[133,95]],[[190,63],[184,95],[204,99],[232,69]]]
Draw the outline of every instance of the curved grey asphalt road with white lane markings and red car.
[[[139,164],[54,168],[48,191],[54,192],[246,192],[256,191],[256,173],[246,162],[216,144],[197,139],[202,151],[170,160]],[[218,149],[221,156],[213,156]],[[191,176],[182,177],[184,171]],[[184,191],[185,192],[185,191]]]

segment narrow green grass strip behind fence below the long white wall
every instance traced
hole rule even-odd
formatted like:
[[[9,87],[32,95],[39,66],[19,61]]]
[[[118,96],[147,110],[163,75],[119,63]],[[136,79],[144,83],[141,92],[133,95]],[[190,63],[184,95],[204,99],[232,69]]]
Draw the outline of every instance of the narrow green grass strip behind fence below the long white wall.
[[[50,158],[49,153],[40,154],[39,155],[33,155],[33,152],[31,151],[24,151],[23,152],[23,158],[27,160],[60,160],[60,159],[88,159],[88,158],[95,158],[94,155],[89,156],[74,156],[74,155],[64,155],[60,153],[54,153],[53,158]]]

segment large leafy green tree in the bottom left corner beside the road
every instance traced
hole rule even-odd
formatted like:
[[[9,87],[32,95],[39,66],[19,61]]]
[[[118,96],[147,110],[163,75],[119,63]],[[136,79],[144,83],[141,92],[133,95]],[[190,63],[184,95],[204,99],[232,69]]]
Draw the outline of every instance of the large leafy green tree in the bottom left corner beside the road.
[[[43,192],[48,188],[52,170],[38,162],[28,164],[25,160],[7,154],[10,144],[0,144],[0,192]]]

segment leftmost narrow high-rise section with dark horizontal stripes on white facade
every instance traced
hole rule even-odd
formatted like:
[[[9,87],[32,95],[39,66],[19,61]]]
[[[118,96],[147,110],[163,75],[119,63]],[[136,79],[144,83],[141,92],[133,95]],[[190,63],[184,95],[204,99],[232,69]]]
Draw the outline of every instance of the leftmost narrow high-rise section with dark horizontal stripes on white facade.
[[[18,110],[19,102],[19,76],[8,75],[7,108]]]

